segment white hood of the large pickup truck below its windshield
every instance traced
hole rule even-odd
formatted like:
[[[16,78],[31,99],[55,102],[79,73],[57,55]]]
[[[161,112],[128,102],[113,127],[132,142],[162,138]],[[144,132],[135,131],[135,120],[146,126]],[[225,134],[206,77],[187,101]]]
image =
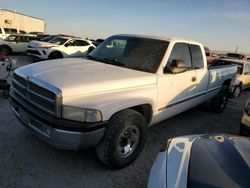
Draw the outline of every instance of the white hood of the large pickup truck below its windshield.
[[[65,58],[24,66],[15,71],[35,77],[62,91],[63,97],[156,84],[156,74],[83,58]]]

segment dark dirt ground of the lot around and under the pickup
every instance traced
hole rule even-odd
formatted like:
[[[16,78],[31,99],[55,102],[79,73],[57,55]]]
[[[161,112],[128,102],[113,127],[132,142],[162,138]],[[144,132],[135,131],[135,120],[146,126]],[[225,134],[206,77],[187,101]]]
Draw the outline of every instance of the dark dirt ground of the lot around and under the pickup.
[[[30,63],[25,56],[17,58],[19,66]],[[1,187],[146,187],[151,165],[168,138],[200,133],[237,134],[249,96],[250,91],[245,91],[231,99],[220,115],[210,113],[208,104],[203,104],[151,127],[140,157],[121,170],[104,166],[94,149],[63,151],[45,144],[18,122],[8,100],[0,98]]]

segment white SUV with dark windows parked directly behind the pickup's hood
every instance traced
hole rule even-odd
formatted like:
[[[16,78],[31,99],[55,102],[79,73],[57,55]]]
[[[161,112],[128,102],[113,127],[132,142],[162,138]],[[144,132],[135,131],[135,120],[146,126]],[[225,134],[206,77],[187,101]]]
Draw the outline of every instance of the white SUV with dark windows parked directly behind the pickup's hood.
[[[31,41],[27,55],[35,59],[58,59],[87,55],[95,46],[91,41],[74,37],[56,37],[49,42]]]

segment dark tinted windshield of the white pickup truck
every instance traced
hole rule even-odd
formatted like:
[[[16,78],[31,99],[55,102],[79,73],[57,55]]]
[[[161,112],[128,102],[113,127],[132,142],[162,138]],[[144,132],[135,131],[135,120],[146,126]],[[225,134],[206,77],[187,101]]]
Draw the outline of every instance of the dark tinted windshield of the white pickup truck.
[[[113,36],[87,58],[129,69],[155,73],[169,42],[141,37]]]

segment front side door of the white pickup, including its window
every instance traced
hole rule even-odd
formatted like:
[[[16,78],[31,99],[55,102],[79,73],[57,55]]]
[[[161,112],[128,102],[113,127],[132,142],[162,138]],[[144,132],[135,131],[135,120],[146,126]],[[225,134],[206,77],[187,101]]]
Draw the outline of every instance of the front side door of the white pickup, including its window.
[[[171,67],[173,60],[184,61],[187,70],[185,72],[173,74],[166,71]],[[186,43],[175,43],[168,62],[164,69],[164,74],[158,78],[158,112],[160,120],[178,114],[193,105],[195,98],[197,76],[193,69],[189,45]]]

